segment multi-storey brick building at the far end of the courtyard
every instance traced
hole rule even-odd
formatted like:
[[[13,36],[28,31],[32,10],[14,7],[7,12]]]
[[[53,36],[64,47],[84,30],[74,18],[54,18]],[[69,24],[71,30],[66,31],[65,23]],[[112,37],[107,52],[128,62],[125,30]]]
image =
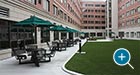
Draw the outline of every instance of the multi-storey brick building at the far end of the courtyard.
[[[106,4],[99,1],[83,1],[82,5],[82,31],[86,37],[105,37]]]

